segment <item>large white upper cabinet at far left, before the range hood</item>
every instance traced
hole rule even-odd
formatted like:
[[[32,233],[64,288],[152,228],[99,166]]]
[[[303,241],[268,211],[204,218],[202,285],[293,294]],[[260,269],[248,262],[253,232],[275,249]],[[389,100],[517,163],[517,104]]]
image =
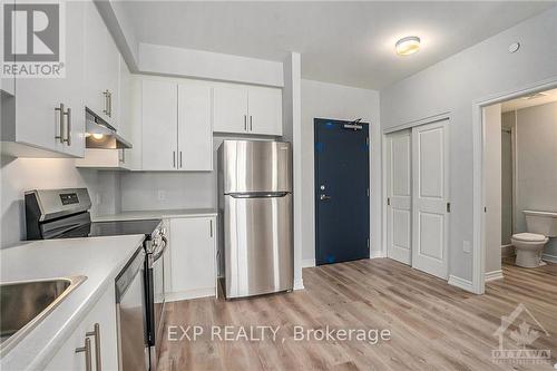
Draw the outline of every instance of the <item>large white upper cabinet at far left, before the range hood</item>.
[[[21,157],[80,157],[85,148],[85,3],[66,3],[63,78],[19,78],[2,98],[2,153]],[[29,150],[25,148],[28,147]],[[52,155],[49,155],[51,153]]]

